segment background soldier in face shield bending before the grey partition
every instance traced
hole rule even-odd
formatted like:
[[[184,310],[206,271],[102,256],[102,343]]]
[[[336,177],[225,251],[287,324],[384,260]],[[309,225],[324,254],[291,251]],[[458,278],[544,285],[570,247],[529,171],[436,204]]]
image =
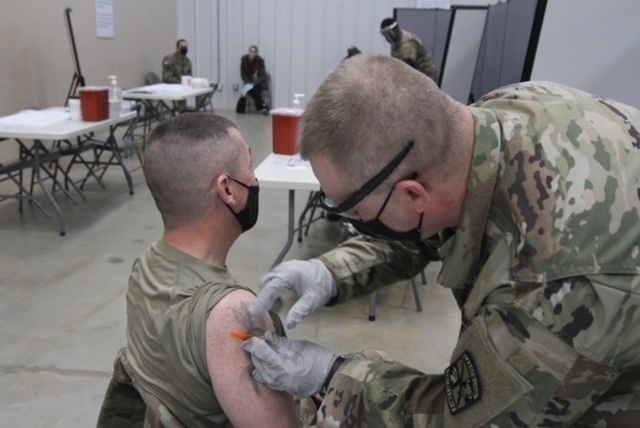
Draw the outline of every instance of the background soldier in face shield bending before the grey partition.
[[[391,45],[392,57],[406,62],[438,83],[438,70],[433,64],[429,51],[418,36],[401,29],[393,18],[382,20],[380,33]]]

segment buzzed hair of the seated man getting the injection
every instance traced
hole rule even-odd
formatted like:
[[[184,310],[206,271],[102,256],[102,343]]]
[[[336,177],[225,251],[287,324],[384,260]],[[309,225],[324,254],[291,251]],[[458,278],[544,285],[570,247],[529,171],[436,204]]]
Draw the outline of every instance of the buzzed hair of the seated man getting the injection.
[[[215,177],[235,174],[241,144],[222,116],[190,113],[160,123],[144,152],[144,177],[167,230],[196,221],[209,207]]]

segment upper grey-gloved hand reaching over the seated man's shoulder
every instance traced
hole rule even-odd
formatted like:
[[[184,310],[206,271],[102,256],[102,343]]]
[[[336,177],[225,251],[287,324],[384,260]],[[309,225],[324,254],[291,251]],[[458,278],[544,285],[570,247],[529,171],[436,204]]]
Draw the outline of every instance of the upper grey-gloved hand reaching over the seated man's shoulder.
[[[280,309],[282,296],[295,292],[299,300],[287,315],[287,328],[294,328],[302,318],[326,305],[338,294],[338,288],[329,268],[318,259],[289,260],[281,263],[260,278],[260,293],[249,308],[252,315],[261,315],[269,309]]]

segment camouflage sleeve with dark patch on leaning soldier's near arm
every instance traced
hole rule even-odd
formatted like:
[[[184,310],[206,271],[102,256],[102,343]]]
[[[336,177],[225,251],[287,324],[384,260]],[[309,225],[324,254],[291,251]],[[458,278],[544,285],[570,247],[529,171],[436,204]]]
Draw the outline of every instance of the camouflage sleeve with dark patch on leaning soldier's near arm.
[[[640,421],[640,367],[616,370],[577,354],[522,311],[483,310],[442,375],[384,354],[347,355],[307,426],[630,427]],[[526,323],[524,322],[526,320]],[[510,330],[526,326],[520,333]],[[520,341],[519,334],[526,339]],[[302,412],[301,412],[302,413]]]

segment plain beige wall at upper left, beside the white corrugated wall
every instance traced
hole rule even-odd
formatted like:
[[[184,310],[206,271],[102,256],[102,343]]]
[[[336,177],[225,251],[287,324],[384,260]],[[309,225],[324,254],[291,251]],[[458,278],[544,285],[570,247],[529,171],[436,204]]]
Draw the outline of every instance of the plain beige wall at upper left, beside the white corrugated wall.
[[[94,0],[0,0],[0,116],[62,105],[73,77],[64,10],[88,85],[139,86],[175,49],[176,0],[114,0],[114,37],[98,39]]]

